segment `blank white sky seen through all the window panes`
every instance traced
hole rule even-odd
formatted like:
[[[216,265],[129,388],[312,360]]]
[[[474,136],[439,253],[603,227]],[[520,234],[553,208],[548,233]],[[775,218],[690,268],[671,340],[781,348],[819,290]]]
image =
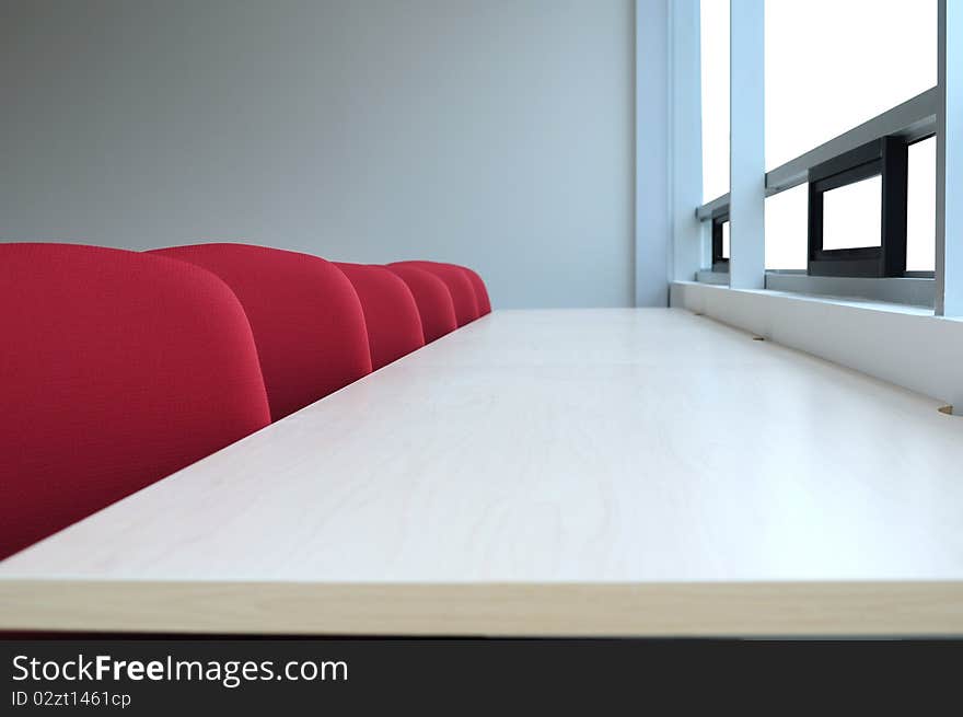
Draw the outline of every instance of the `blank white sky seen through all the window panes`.
[[[766,0],[766,167],[936,85],[936,0]],[[729,0],[701,0],[701,42],[708,201],[729,190]],[[909,270],[933,268],[935,143],[909,150]],[[803,186],[766,200],[766,268],[805,268],[807,199]],[[832,201],[835,241],[879,224],[866,192]]]

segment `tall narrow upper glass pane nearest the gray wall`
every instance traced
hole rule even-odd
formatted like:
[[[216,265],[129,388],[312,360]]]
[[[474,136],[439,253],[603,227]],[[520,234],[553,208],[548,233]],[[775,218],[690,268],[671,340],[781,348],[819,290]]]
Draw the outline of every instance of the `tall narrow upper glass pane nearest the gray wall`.
[[[701,0],[703,201],[729,192],[729,0]]]

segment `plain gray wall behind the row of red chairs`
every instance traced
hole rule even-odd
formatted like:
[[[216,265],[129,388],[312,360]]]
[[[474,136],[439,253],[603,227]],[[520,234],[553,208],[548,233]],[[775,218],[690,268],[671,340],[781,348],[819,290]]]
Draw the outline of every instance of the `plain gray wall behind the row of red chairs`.
[[[630,0],[0,0],[0,240],[251,241],[634,297]]]

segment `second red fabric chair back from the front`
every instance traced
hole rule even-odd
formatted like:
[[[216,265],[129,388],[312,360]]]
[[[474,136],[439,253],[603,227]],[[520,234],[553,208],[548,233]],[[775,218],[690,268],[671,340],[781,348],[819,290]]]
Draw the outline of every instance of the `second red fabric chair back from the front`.
[[[254,332],[274,420],[371,372],[361,302],[334,264],[250,244],[153,253],[202,266],[237,294]]]

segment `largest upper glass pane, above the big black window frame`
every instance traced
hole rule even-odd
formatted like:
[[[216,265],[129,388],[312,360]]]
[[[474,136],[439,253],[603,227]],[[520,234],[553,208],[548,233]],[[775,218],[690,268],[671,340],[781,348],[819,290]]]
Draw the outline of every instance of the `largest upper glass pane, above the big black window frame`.
[[[937,0],[766,0],[766,167],[936,83]]]

